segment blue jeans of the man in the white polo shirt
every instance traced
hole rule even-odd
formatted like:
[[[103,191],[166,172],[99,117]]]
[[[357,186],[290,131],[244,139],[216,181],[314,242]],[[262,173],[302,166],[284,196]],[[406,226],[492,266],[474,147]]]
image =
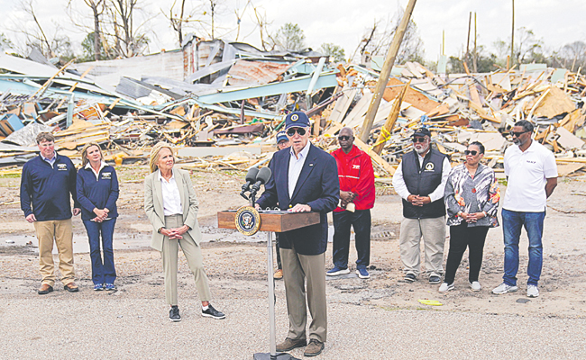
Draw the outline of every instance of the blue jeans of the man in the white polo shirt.
[[[502,210],[502,231],[505,240],[505,275],[503,281],[509,286],[517,286],[519,268],[519,237],[525,228],[529,238],[529,266],[527,284],[537,285],[544,262],[543,244],[545,211],[518,212]]]

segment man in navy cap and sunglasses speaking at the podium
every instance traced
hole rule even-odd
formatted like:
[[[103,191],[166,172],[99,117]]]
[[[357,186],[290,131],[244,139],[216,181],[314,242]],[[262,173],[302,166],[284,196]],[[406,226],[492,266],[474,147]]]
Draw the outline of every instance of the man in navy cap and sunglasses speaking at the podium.
[[[325,247],[327,216],[337,206],[340,194],[335,159],[309,142],[309,119],[305,112],[292,112],[285,119],[290,148],[276,152],[270,162],[272,176],[257,208],[276,206],[292,212],[315,211],[320,223],[282,232],[279,236],[283,279],[287,296],[289,330],[277,351],[306,347],[305,356],[324,349],[327,334],[325,303]],[[307,344],[307,305],[311,313]]]

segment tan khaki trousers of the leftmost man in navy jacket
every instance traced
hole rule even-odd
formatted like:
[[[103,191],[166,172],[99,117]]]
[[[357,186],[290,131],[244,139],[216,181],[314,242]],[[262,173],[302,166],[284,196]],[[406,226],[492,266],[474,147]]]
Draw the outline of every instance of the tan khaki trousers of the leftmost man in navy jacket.
[[[39,239],[39,266],[42,284],[55,285],[55,265],[53,264],[53,240],[59,251],[59,271],[61,282],[73,283],[73,232],[71,219],[34,221],[34,230]]]

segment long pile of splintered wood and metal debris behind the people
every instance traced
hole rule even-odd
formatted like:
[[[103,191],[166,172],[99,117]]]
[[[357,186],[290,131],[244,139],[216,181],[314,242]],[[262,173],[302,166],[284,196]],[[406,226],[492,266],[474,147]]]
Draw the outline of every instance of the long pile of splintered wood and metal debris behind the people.
[[[96,141],[106,160],[144,162],[165,140],[177,146],[184,167],[245,169],[270,159],[284,116],[296,110],[313,121],[316,145],[332,150],[344,126],[361,133],[379,72],[327,60],[310,49],[261,51],[223,40],[60,68],[38,51],[0,55],[0,166],[33,157],[36,134],[50,130],[60,153],[74,159]],[[585,94],[580,70],[529,64],[445,75],[407,62],[391,72],[369,140],[355,143],[385,178],[412,149],[413,130],[426,126],[453,161],[479,140],[489,165],[501,171],[508,130],[525,119],[568,175],[586,166]]]

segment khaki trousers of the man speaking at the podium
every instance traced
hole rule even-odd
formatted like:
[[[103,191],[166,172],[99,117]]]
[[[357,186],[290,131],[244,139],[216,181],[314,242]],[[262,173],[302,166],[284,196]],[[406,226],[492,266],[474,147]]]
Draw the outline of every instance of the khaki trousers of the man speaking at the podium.
[[[287,338],[307,339],[307,305],[311,314],[309,339],[325,342],[327,338],[327,303],[325,302],[325,254],[301,255],[295,248],[280,248],[283,280],[287,297],[289,329]],[[307,278],[307,305],[306,287]]]

